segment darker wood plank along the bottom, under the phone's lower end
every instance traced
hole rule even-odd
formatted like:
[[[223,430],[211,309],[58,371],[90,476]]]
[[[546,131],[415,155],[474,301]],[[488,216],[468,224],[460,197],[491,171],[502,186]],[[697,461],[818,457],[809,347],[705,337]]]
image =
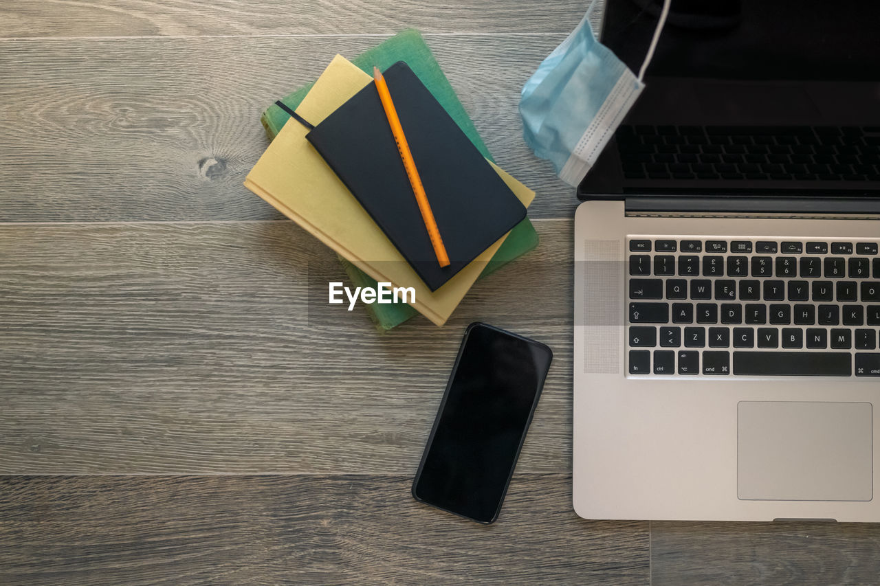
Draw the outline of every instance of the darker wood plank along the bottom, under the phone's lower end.
[[[590,522],[567,474],[524,475],[499,520],[414,502],[411,477],[7,478],[4,584],[649,581],[648,524]]]

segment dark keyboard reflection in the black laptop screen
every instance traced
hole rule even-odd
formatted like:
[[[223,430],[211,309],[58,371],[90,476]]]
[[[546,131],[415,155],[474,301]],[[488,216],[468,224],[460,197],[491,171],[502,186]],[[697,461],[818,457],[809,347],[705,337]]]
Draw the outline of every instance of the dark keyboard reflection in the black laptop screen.
[[[621,126],[627,179],[880,181],[880,127]]]

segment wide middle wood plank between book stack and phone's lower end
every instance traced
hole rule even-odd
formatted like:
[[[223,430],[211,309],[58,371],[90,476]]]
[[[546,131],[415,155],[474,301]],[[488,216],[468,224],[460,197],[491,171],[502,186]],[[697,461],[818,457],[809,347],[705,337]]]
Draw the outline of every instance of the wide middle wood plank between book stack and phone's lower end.
[[[412,473],[478,319],[554,348],[519,471],[568,472],[572,223],[536,225],[446,326],[385,335],[293,223],[0,226],[0,473]]]

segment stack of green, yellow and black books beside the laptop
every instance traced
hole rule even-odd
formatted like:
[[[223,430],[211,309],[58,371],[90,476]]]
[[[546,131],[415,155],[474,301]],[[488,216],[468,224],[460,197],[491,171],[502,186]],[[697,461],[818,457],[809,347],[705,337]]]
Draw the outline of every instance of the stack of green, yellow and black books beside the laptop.
[[[435,255],[389,121],[367,71],[378,67],[400,117],[449,264]],[[409,304],[369,304],[380,330],[422,313],[443,325],[477,279],[532,250],[534,194],[491,160],[416,31],[352,62],[337,55],[261,118],[272,143],[245,185],[341,258],[356,287],[411,288]]]

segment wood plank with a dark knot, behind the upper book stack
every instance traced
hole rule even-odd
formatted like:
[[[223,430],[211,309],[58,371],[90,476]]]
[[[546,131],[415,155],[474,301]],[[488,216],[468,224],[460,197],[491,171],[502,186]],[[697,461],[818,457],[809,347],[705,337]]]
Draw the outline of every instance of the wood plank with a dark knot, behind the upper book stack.
[[[427,38],[498,163],[570,217],[574,189],[525,146],[519,92],[561,35]],[[4,41],[0,222],[282,217],[242,186],[260,112],[381,36]]]

